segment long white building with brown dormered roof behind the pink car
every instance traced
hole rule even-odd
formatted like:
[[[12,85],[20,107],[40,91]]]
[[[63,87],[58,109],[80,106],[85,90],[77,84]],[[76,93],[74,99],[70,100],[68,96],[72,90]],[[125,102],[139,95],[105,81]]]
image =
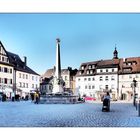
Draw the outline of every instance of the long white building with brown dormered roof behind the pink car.
[[[118,94],[118,59],[100,60],[81,64],[76,75],[76,88],[81,96],[98,99],[109,91],[113,99]]]

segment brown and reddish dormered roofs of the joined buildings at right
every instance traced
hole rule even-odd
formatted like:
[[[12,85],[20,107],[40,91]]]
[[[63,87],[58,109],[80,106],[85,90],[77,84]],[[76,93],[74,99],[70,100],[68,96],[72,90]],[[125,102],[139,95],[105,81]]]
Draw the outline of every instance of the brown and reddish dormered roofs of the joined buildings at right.
[[[89,69],[90,64],[96,64],[94,68]],[[84,66],[84,69],[82,69]],[[102,68],[118,68],[119,74],[133,74],[140,73],[140,57],[129,57],[119,59],[108,59],[82,63],[76,76],[96,75],[96,69]],[[88,70],[93,70],[92,74],[87,74]]]

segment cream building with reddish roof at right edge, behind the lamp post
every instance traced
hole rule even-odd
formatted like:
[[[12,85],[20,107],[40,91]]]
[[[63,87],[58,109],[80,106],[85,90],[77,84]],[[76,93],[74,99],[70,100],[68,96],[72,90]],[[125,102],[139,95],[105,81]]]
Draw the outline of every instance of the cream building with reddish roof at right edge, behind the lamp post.
[[[136,93],[140,96],[140,57],[120,59],[119,96],[123,100],[130,100],[134,95],[134,82],[136,80]]]

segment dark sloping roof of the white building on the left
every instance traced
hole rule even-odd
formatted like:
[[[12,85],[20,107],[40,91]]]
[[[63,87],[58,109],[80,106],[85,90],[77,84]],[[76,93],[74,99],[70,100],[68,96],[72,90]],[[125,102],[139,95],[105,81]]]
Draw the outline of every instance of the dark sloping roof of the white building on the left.
[[[10,63],[14,65],[14,68],[16,70],[27,72],[34,75],[39,75],[35,71],[30,69],[28,66],[26,66],[26,64],[20,59],[19,55],[11,53],[11,52],[7,52],[7,54],[8,54]]]

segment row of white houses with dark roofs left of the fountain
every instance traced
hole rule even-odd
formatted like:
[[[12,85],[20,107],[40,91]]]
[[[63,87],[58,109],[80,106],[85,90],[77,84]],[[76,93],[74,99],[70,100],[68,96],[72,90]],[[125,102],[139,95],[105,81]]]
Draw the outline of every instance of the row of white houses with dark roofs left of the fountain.
[[[12,92],[25,95],[39,89],[40,76],[27,66],[27,58],[24,61],[14,53],[8,52],[0,42],[0,93],[7,97]]]

